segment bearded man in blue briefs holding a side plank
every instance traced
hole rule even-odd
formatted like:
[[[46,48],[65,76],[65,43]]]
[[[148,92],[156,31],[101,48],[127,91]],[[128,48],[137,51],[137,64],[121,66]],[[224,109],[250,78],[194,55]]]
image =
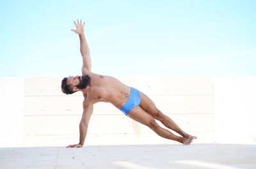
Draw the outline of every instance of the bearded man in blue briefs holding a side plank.
[[[67,147],[83,147],[88,124],[93,112],[93,104],[100,101],[112,103],[112,105],[124,112],[125,115],[145,124],[155,131],[157,135],[164,138],[175,140],[184,145],[189,145],[196,138],[196,136],[191,136],[182,131],[172,119],[158,110],[153,101],[143,92],[123,84],[114,77],[92,73],[90,50],[84,37],[84,22],[82,25],[82,20],[80,22],[77,20],[77,23],[74,21],[74,24],[76,30],[71,29],[71,31],[79,34],[80,52],[83,57],[83,76],[63,78],[61,90],[65,94],[81,91],[83,92],[84,101],[83,115],[79,124],[80,142],[68,145]],[[156,120],[162,122],[164,126],[176,131],[181,136],[173,135],[167,129],[161,128]]]

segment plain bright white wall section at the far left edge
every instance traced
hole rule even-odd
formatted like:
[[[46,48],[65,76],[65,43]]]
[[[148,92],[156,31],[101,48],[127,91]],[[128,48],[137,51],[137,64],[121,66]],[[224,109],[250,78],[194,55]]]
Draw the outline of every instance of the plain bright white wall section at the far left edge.
[[[0,147],[23,145],[23,78],[0,78]]]

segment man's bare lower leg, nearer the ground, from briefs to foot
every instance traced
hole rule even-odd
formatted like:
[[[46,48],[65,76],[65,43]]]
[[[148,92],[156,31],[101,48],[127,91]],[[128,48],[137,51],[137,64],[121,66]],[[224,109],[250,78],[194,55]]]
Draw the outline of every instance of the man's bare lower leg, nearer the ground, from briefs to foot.
[[[188,145],[189,143],[192,142],[192,140],[189,138],[173,135],[173,133],[171,133],[167,129],[164,129],[161,126],[159,126],[155,121],[154,117],[145,112],[140,106],[132,108],[132,110],[129,112],[127,116],[131,117],[135,121],[145,124],[146,126],[148,126],[148,128],[155,131],[157,135],[162,136],[163,138],[175,140],[177,142],[183,143],[184,145]]]

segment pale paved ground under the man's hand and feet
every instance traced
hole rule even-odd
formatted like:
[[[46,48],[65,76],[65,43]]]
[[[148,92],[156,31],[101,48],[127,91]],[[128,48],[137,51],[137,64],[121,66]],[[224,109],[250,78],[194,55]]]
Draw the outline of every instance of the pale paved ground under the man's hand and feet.
[[[256,145],[99,145],[0,148],[0,168],[256,168]]]

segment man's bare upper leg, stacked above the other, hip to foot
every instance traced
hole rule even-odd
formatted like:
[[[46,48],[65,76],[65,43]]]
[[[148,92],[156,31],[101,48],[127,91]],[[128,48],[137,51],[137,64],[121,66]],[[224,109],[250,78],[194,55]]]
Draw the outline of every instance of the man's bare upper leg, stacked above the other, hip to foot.
[[[170,119],[170,117],[164,115],[160,110],[158,110],[154,102],[150,98],[148,98],[148,96],[146,96],[143,92],[140,92],[140,98],[140,107],[143,108],[145,112],[148,112],[148,114],[152,115],[154,119],[161,121],[164,124],[164,126],[179,133],[184,138],[189,138],[191,140],[196,138],[196,136],[191,136],[188,133],[184,132],[172,119]]]

